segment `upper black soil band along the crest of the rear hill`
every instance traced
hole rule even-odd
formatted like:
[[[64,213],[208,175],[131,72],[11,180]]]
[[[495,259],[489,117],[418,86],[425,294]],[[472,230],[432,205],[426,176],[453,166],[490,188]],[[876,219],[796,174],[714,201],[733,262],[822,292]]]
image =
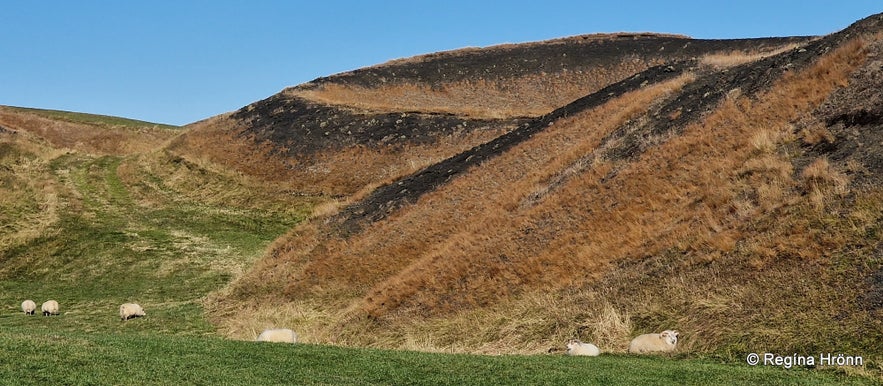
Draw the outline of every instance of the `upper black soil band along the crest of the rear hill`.
[[[620,34],[609,38],[585,35],[430,54],[319,78],[298,87],[310,88],[324,83],[376,87],[396,82],[422,82],[440,87],[463,80],[505,84],[508,79],[528,75],[592,72],[626,60],[662,64],[690,60],[711,52],[772,50],[809,39],[811,37],[718,40],[654,34]]]

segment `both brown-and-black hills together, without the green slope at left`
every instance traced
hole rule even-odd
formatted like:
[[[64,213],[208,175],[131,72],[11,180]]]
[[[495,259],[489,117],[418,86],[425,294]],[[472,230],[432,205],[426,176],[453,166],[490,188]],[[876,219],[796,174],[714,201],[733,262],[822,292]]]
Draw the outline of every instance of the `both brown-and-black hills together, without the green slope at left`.
[[[490,353],[677,328],[731,359],[879,358],[881,22],[428,55],[194,125],[173,151],[335,198],[213,320]],[[247,157],[195,145],[222,136]]]

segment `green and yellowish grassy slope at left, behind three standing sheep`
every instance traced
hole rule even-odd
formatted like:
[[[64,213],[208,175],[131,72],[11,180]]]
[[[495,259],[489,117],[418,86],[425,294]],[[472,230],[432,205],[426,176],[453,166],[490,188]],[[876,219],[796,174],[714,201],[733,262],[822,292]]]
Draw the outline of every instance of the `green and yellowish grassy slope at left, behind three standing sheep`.
[[[205,296],[307,209],[162,151],[96,156],[59,152],[28,133],[0,139],[3,217],[18,220],[0,232],[0,315],[20,312],[27,298],[55,299],[56,331],[212,334]],[[121,324],[126,301],[150,317]]]

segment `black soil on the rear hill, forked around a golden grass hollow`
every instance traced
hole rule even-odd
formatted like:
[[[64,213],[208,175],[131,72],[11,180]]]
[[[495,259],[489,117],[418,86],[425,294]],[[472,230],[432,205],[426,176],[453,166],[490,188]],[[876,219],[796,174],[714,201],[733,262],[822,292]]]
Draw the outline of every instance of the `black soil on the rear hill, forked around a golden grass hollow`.
[[[388,83],[425,82],[432,87],[460,80],[498,82],[525,75],[564,71],[591,72],[624,61],[671,63],[710,52],[757,52],[810,37],[699,40],[676,36],[631,34],[614,38],[583,36],[488,49],[430,54],[316,79],[297,86],[323,83],[375,87]],[[439,136],[514,127],[526,120],[482,120],[421,112],[371,113],[316,104],[285,93],[246,106],[232,115],[242,123],[242,135],[286,149],[293,158],[352,145],[431,143]]]

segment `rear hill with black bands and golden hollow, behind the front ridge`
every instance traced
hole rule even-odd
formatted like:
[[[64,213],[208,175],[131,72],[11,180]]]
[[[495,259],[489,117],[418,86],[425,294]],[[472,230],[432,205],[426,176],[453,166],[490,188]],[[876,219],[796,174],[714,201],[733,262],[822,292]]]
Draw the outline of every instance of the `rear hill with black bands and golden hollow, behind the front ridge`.
[[[360,197],[650,67],[731,65],[811,39],[588,35],[432,54],[287,88],[191,125],[172,150],[305,194]]]

